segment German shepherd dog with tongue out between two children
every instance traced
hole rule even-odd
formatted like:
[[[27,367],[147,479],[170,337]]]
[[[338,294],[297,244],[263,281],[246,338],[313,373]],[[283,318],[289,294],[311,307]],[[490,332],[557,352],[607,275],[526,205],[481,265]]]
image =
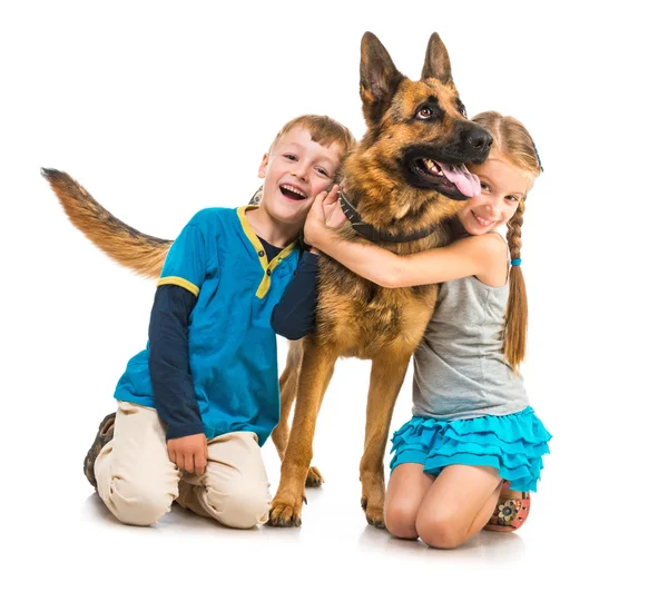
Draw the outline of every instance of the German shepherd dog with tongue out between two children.
[[[429,40],[418,81],[395,68],[373,33],[363,36],[361,51],[360,93],[367,130],[342,168],[340,199],[351,221],[338,231],[347,240],[373,240],[400,255],[442,246],[449,238],[443,223],[470,197],[464,162],[484,161],[492,137],[466,119],[448,51],[436,33]],[[170,240],[118,220],[67,174],[42,174],[72,224],[95,245],[140,275],[159,276]],[[316,417],[336,359],[353,356],[372,361],[360,480],[366,520],[383,527],[383,456],[392,412],[438,286],[382,288],[324,255],[318,267],[316,326],[291,343],[279,381],[281,421],[272,438],[282,458],[281,483],[269,524],[301,525],[304,486],[323,481],[315,467],[310,468]]]

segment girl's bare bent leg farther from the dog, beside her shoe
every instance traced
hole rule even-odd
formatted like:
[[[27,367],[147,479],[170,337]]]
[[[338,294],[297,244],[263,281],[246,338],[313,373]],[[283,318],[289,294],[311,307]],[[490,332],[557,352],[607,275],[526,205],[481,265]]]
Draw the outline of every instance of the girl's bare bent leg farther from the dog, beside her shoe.
[[[430,546],[461,545],[487,524],[501,485],[499,472],[491,466],[446,466],[424,495],[418,534]]]

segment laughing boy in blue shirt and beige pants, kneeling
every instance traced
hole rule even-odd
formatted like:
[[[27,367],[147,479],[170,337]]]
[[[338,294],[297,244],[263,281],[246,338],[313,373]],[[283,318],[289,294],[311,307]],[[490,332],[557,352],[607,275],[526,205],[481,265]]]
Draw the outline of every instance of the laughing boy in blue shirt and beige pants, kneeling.
[[[85,461],[121,522],[153,524],[174,500],[227,526],[267,521],[259,447],[281,413],[271,314],[302,256],[311,204],[353,144],[327,117],[293,119],[262,159],[262,203],[202,210],[171,245],[148,346],[128,363],[118,411]]]

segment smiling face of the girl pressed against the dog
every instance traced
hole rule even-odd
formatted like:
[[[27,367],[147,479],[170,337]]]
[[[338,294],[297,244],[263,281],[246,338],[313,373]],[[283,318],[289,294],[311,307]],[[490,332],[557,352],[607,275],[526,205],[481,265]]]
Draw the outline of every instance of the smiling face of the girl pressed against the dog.
[[[471,165],[469,170],[478,175],[481,193],[469,199],[458,216],[466,233],[484,235],[512,218],[520,199],[531,188],[531,179],[523,170],[498,158]]]

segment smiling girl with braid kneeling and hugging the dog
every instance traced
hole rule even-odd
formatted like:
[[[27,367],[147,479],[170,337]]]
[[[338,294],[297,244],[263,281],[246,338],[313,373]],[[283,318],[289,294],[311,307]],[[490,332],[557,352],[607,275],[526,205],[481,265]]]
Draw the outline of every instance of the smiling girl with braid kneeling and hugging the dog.
[[[414,355],[413,417],[392,440],[385,501],[393,535],[441,549],[483,527],[523,524],[551,437],[518,374],[527,336],[521,227],[542,167],[517,119],[488,111],[473,120],[494,141],[488,160],[470,167],[481,193],[449,223],[449,246],[402,257],[343,240],[332,230],[345,219],[335,191],[318,196],[305,227],[315,249],[381,286],[444,283]]]

